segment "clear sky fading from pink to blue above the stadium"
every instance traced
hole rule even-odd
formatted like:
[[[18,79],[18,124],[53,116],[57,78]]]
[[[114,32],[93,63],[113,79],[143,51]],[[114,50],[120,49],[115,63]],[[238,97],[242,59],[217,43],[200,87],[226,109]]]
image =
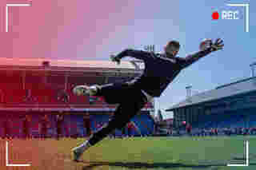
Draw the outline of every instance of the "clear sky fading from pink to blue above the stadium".
[[[6,3],[16,2],[27,1],[0,2],[2,57],[109,60],[112,53],[144,45],[162,52],[172,39],[182,44],[178,55],[186,57],[198,51],[203,38],[223,38],[225,49],[183,70],[157,99],[157,109],[184,100],[186,85],[202,92],[250,77],[255,61],[255,1],[34,0],[33,6],[10,9],[10,32],[5,33]],[[244,8],[226,3],[250,4],[249,33]],[[239,19],[213,21],[211,14],[222,10],[238,10]]]

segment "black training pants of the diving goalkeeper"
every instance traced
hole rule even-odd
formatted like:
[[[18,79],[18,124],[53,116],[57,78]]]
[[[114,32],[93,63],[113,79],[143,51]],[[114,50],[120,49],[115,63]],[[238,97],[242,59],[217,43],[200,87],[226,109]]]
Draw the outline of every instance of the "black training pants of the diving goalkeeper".
[[[141,89],[136,89],[134,85],[127,85],[126,83],[103,85],[95,96],[104,97],[108,104],[119,105],[109,124],[90,137],[89,143],[92,145],[113,132],[115,128],[121,130],[147,102]]]

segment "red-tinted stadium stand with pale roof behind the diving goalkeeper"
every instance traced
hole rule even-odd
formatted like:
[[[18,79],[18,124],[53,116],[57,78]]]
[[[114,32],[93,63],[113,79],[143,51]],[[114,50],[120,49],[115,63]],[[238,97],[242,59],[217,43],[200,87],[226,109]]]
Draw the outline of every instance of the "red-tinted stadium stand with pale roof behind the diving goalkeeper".
[[[10,136],[22,137],[22,117],[31,116],[30,133],[39,137],[40,119],[47,114],[50,120],[48,136],[56,136],[56,114],[64,114],[63,136],[85,136],[83,114],[90,113],[93,131],[98,124],[109,121],[116,105],[106,105],[102,98],[90,102],[89,97],[77,97],[72,93],[75,85],[94,85],[127,81],[142,73],[129,61],[116,65],[110,61],[66,61],[44,59],[0,58],[0,122],[10,115]],[[147,104],[133,121],[143,134],[153,131],[154,121]],[[3,123],[2,123],[3,125]],[[5,127],[0,127],[4,136]],[[117,135],[121,135],[116,130]],[[138,135],[138,132],[133,132]]]

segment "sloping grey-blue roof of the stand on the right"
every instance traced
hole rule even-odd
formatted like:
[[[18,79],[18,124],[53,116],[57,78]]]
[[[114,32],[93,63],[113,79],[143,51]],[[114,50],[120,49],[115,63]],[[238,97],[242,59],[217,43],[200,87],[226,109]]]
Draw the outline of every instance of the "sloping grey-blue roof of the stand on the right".
[[[169,109],[166,109],[166,111],[172,111],[173,109],[200,104],[206,101],[214,101],[224,97],[231,97],[241,93],[248,93],[254,90],[256,90],[256,77],[250,77],[227,85],[221,85],[216,89],[211,89],[203,93],[198,93],[192,97],[188,97],[177,105],[173,105]]]

